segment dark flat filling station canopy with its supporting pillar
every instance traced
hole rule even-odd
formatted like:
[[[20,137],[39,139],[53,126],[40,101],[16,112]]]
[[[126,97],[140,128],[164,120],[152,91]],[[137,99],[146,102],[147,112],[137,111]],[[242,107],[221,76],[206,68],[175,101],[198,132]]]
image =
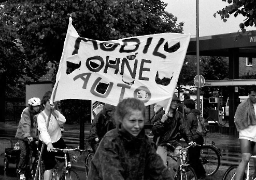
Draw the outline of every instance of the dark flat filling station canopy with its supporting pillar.
[[[235,86],[256,85],[255,79],[239,79],[239,57],[256,58],[256,30],[244,34],[230,33],[199,38],[200,56],[222,56],[229,58],[229,80],[205,81],[205,86],[229,86],[229,126],[235,126],[234,116],[238,106]],[[191,38],[187,55],[196,56],[196,38]]]

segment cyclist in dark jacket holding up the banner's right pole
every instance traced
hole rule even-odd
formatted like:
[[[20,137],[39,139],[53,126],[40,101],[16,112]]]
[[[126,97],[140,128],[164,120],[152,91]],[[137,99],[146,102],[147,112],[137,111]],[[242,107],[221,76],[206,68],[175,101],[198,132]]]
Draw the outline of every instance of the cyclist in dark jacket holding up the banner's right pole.
[[[177,111],[180,103],[176,94],[173,95],[173,100],[170,103],[170,108],[167,113],[164,110],[159,112],[155,117],[154,125],[152,127],[152,133],[154,135],[153,140],[158,145],[157,153],[162,157],[164,165],[167,164],[167,148],[162,146],[165,143],[171,143],[175,148],[181,148],[180,139],[183,137],[186,141],[192,141],[189,134],[189,127],[184,120],[182,113]],[[179,154],[178,150],[175,150],[174,155]],[[180,165],[180,159],[177,163],[177,168]]]

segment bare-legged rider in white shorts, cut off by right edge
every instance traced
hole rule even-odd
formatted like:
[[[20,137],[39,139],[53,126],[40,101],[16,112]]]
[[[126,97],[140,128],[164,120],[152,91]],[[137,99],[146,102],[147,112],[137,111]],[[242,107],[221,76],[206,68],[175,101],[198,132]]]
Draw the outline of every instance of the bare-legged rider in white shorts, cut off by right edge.
[[[237,167],[235,179],[242,179],[245,168],[250,160],[251,154],[256,155],[256,86],[252,85],[248,89],[249,98],[238,105],[235,113],[235,125],[239,132],[239,141],[241,148],[241,162]],[[253,158],[254,173],[252,178],[256,177],[256,159]]]

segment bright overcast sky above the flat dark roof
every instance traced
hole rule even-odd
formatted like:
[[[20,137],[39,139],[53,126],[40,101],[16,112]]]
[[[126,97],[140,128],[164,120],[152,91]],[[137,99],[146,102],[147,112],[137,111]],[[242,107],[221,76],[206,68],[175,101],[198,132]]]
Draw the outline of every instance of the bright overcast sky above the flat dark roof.
[[[178,22],[184,22],[183,32],[196,37],[196,0],[162,0],[167,3],[166,11],[175,15]],[[236,18],[230,15],[230,18],[224,23],[219,14],[214,13],[221,10],[228,3],[222,0],[199,0],[199,25],[200,37],[237,32],[239,23],[243,22],[245,17],[238,15]],[[256,30],[255,27],[246,28]]]

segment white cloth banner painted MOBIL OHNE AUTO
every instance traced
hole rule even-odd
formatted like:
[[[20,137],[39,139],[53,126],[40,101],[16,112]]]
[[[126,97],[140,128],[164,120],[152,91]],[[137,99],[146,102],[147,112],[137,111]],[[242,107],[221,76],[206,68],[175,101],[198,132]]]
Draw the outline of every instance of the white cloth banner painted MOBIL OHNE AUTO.
[[[82,99],[117,105],[127,97],[136,97],[146,106],[164,106],[172,99],[189,41],[190,34],[177,33],[92,40],[79,37],[69,20],[51,100]],[[67,73],[67,62],[80,67]],[[165,78],[165,85],[157,84],[156,78]],[[108,85],[104,93],[97,91],[100,83]]]

